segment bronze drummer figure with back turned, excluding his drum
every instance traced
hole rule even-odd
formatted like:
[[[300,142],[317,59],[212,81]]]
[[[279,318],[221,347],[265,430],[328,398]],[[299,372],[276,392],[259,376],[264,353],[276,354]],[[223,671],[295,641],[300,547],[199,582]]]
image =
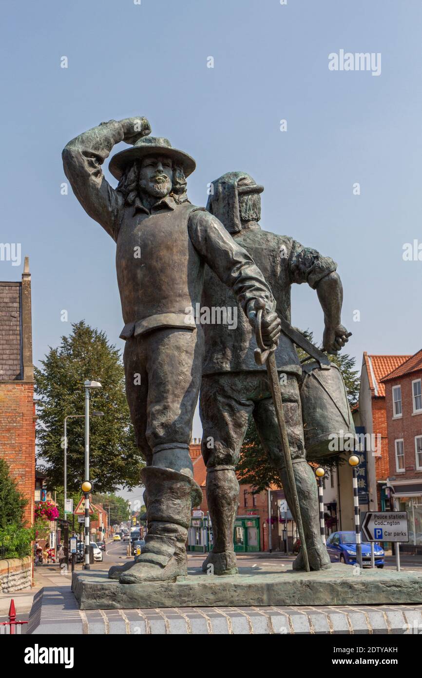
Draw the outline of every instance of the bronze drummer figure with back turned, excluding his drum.
[[[291,237],[262,231],[259,225],[262,191],[263,187],[257,185],[249,174],[228,172],[212,182],[207,209],[224,223],[234,241],[247,250],[259,266],[272,289],[276,310],[286,327],[290,327],[291,321],[291,285],[307,282],[316,290],[324,311],[324,349],[338,351],[347,341],[347,330],[340,319],[343,291],[339,275],[335,272],[337,264],[316,250],[303,247]],[[234,303],[236,300],[230,290],[207,269],[203,306],[230,306]],[[251,414],[263,449],[279,469],[293,514],[295,509],[266,367],[257,365],[254,359],[257,342],[253,328],[240,313],[235,330],[224,325],[205,325],[204,330],[200,414],[214,545],[203,563],[203,570],[207,571],[211,564],[214,574],[234,574],[237,570],[233,530],[239,490],[234,469]],[[305,459],[299,396],[302,368],[293,341],[285,332],[278,338],[274,355],[280,375],[282,409],[309,563],[312,570],[320,570],[330,567],[330,559],[320,538],[317,485],[312,468]],[[209,445],[210,440],[212,446]],[[293,569],[303,570],[304,565],[300,551]]]

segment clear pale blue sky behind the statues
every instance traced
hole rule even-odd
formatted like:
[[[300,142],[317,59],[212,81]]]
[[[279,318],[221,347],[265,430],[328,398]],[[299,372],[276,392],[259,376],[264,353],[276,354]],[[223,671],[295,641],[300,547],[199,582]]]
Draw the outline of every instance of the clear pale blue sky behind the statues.
[[[22,263],[0,261],[0,280],[20,279],[29,256],[36,365],[81,319],[123,346],[115,244],[62,195],[61,151],[138,115],[196,159],[192,203],[248,172],[265,187],[261,226],[337,261],[359,368],[363,351],[421,348],[421,3],[21,0],[2,16],[0,242],[20,243]],[[341,50],[381,72],[331,70]],[[322,338],[307,285],[293,287],[292,322]]]

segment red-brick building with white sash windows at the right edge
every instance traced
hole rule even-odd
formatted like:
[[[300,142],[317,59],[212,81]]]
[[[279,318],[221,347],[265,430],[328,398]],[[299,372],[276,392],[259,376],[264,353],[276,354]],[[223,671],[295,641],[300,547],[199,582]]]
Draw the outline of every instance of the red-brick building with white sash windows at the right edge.
[[[410,541],[403,548],[422,553],[422,350],[382,381],[392,509],[408,513]]]

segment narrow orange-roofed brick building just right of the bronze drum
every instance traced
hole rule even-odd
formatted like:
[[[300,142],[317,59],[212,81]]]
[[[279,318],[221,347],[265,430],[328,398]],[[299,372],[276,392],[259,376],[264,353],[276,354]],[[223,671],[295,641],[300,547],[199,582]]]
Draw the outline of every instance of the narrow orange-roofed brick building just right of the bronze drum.
[[[408,355],[369,355],[366,351],[363,354],[358,408],[353,413],[355,425],[363,426],[364,434],[372,441],[366,449],[368,503],[362,504],[363,511],[386,508],[384,488],[389,477],[389,454],[383,377],[408,358]]]

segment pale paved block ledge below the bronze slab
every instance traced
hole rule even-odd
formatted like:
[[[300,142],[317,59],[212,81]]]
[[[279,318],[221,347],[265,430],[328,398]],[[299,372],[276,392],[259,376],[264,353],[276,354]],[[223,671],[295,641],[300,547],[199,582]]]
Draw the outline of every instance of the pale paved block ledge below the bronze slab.
[[[79,610],[68,586],[37,593],[33,635],[339,635],[404,634],[422,629],[422,605],[171,607]]]

